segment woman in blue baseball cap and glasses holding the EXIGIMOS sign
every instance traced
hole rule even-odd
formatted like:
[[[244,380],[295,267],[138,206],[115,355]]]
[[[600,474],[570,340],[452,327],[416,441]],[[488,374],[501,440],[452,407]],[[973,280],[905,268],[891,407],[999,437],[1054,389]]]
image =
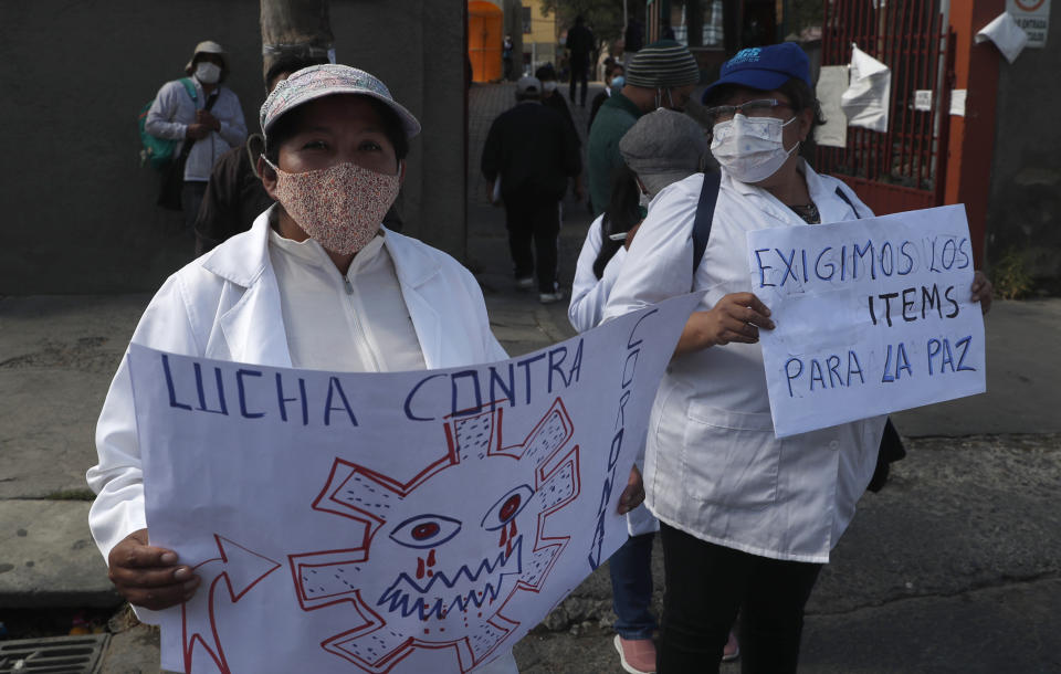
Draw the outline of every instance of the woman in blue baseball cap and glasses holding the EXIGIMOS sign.
[[[746,233],[872,217],[799,148],[823,124],[796,44],[746,49],[704,93],[721,186],[711,235],[692,261],[704,177],[664,189],[630,245],[605,319],[706,291],[652,410],[645,505],[665,559],[658,672],[717,672],[740,613],[743,672],[795,672],[803,607],[876,464],[884,417],[774,436],[750,292]],[[690,262],[693,262],[690,265]],[[977,273],[973,301],[991,287]]]

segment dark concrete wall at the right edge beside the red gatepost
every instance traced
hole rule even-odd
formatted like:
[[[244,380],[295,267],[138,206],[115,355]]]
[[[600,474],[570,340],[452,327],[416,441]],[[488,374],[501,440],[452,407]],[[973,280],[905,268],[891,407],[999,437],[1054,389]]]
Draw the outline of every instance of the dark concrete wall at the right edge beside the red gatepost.
[[[1055,9],[1058,9],[1055,7]],[[1044,49],[999,55],[987,259],[1020,254],[1040,287],[1061,291],[1061,11]],[[985,140],[986,141],[986,140]]]

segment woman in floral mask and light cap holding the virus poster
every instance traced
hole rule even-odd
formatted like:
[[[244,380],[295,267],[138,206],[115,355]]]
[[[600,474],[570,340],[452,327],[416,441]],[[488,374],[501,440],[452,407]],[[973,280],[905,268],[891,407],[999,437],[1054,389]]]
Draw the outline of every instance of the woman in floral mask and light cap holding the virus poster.
[[[151,299],[134,343],[346,372],[507,358],[474,276],[445,253],[381,224],[406,172],[409,140],[420,131],[382,82],[346,65],[306,67],[276,85],[260,120],[265,152],[259,171],[279,203],[249,231],[174,274]],[[146,622],[151,610],[207,590],[187,560],[148,541],[140,459],[148,442],[137,435],[123,360],[97,425],[99,463],[87,475],[98,495],[90,526],[118,592]],[[476,657],[476,672],[516,671],[511,652]]]

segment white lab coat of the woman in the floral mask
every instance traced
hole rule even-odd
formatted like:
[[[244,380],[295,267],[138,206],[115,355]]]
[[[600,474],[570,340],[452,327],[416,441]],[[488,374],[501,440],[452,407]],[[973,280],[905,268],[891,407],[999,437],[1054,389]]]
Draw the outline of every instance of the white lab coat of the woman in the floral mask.
[[[274,207],[275,208],[275,207]],[[272,209],[170,276],[151,299],[133,341],[175,354],[291,367],[280,291],[269,256]],[[490,330],[486,306],[471,273],[445,253],[387,231],[395,264],[427,367],[448,368],[507,358]],[[104,559],[146,525],[140,445],[125,359],[96,425],[99,463],[87,481],[98,496],[88,525]]]

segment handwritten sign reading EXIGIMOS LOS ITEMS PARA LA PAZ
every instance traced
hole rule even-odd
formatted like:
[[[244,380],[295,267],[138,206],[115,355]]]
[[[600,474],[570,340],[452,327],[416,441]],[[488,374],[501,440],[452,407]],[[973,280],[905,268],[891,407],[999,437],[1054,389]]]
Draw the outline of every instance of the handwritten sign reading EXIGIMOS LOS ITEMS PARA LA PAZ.
[[[778,438],[981,393],[963,206],[748,232]]]

